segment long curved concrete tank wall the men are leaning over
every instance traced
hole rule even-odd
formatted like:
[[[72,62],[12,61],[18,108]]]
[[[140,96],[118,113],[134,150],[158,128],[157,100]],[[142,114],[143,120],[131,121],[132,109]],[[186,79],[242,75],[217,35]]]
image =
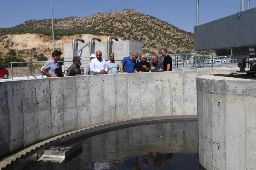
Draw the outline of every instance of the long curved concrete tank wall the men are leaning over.
[[[235,70],[0,82],[0,158],[65,132],[122,120],[196,115],[196,77]]]

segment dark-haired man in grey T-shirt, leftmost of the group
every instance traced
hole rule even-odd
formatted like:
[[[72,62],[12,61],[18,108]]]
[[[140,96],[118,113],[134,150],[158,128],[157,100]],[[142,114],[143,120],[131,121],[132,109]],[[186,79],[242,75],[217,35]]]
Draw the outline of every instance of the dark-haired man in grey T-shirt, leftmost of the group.
[[[42,73],[46,75],[47,77],[58,77],[57,74],[55,74],[55,69],[59,69],[60,65],[57,61],[60,59],[60,51],[55,50],[52,53],[52,58],[49,59],[47,62],[45,62]]]

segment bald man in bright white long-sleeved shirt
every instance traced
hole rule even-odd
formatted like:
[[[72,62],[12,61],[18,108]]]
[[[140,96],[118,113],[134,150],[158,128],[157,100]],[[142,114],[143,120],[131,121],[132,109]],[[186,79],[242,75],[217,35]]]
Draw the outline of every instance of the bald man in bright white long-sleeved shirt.
[[[102,52],[96,51],[96,58],[91,60],[90,73],[91,75],[106,74],[108,67],[106,61],[102,58]]]

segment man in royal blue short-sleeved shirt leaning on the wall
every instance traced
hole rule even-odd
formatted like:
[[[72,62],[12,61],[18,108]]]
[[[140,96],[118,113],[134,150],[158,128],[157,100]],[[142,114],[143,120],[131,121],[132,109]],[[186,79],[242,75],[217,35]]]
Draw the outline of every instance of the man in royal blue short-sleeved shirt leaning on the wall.
[[[120,63],[121,73],[138,73],[136,59],[139,57],[138,52],[133,52],[131,56],[124,57]]]

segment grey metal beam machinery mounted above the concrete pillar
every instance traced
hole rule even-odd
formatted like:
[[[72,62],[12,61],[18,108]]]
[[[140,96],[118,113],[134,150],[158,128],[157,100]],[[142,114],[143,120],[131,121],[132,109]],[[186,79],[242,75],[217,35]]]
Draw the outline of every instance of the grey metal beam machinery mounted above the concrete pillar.
[[[217,56],[231,55],[238,59],[238,73],[256,74],[256,62],[250,61],[250,70],[245,70],[246,60],[255,57],[256,8],[241,10],[236,14],[199,25],[199,0],[196,0],[195,50],[215,50]]]

